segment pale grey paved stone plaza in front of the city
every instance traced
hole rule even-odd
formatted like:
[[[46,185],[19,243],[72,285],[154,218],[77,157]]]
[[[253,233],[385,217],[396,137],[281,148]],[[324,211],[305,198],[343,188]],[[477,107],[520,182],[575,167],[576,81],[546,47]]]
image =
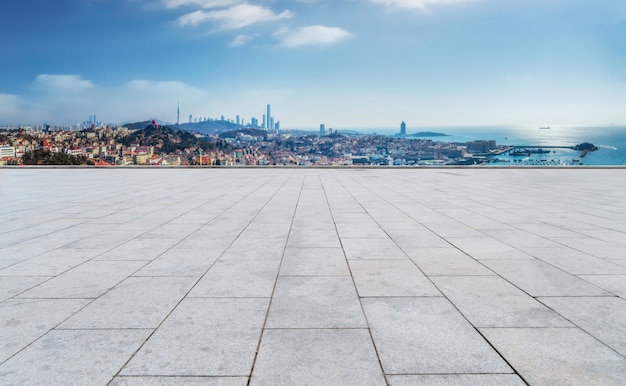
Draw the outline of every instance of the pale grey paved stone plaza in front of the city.
[[[625,385],[626,169],[0,169],[2,385]]]

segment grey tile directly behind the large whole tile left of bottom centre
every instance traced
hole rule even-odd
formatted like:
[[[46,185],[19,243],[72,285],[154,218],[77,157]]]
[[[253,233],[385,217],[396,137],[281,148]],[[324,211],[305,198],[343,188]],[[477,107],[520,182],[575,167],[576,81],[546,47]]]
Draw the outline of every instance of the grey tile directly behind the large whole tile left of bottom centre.
[[[191,290],[191,297],[272,296],[280,260],[218,260]]]

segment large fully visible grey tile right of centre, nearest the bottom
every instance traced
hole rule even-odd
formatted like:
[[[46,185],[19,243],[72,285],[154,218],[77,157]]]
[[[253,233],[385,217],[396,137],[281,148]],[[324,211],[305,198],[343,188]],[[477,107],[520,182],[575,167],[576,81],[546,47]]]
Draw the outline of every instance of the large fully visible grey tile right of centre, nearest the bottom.
[[[366,298],[386,374],[512,373],[444,298]]]

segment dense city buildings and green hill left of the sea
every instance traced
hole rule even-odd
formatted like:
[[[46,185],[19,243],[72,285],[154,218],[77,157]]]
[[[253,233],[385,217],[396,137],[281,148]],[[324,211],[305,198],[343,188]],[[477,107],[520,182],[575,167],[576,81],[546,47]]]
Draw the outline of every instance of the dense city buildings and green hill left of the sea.
[[[146,123],[92,125],[84,130],[5,129],[0,132],[0,163],[49,164],[63,159],[65,164],[98,166],[474,164],[484,162],[496,149],[494,141],[447,143],[337,131],[311,134],[244,128],[218,135],[156,121],[136,129]],[[68,161],[48,153],[75,158]]]

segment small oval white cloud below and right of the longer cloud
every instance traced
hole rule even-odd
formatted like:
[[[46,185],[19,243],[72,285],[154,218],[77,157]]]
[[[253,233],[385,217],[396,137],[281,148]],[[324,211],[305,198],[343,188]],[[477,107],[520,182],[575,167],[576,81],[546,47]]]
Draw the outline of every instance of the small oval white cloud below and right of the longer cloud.
[[[295,31],[281,29],[275,34],[283,46],[289,48],[301,46],[325,46],[338,43],[351,36],[350,32],[339,27],[312,25]]]

